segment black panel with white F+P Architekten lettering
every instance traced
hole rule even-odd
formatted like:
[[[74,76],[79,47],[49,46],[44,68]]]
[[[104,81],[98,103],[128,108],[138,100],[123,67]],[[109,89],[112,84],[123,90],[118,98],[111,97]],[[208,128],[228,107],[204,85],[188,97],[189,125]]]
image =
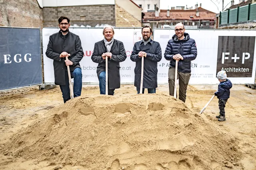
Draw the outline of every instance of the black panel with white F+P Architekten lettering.
[[[217,70],[228,77],[252,77],[255,36],[219,36]]]

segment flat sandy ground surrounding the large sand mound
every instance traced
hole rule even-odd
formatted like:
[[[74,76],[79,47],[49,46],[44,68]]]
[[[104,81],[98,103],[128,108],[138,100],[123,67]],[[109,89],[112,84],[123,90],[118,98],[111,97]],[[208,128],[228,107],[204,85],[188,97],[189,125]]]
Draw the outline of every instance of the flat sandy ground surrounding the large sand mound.
[[[216,89],[217,85],[189,86],[186,105],[199,113]],[[156,93],[168,94],[168,86],[159,85]],[[82,96],[88,94],[99,94],[98,86],[84,85]],[[124,94],[136,94],[136,89],[133,85],[122,85],[115,91],[116,96]],[[4,143],[10,142],[12,135],[22,131],[39,117],[44,117],[49,109],[62,104],[59,87],[46,91],[39,91],[38,87],[31,87],[0,93],[0,149]],[[219,113],[218,99],[214,98],[203,114],[220,128],[238,138],[238,147],[244,156],[240,160],[243,166],[235,167],[235,169],[256,170],[256,90],[243,85],[234,85],[225,109],[226,121],[218,122],[215,118],[215,115]],[[4,165],[1,162],[5,162]],[[6,164],[6,162],[8,163]],[[47,161],[35,163],[33,160],[13,159],[1,153],[0,169],[50,170],[53,169],[53,166],[49,165]],[[82,170],[82,167],[67,165],[63,169]],[[220,169],[224,170],[225,168]]]

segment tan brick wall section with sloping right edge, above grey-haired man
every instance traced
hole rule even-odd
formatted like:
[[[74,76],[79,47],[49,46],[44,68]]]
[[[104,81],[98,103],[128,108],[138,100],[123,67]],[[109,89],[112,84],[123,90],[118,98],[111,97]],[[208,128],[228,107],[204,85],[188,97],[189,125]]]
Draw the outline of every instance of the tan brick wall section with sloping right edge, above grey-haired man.
[[[141,22],[116,5],[116,27],[141,27]]]

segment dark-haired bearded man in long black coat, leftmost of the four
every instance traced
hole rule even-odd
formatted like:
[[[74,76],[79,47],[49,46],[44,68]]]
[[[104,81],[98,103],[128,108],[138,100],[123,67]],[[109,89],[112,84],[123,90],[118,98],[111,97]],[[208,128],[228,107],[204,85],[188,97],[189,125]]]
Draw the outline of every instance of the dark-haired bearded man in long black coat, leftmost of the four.
[[[53,59],[55,84],[60,85],[64,103],[70,100],[70,89],[67,66],[70,67],[71,77],[74,78],[74,97],[81,96],[82,70],[79,62],[84,56],[78,35],[69,31],[70,19],[61,16],[58,19],[60,31],[49,38],[46,56]],[[70,56],[69,56],[70,55]],[[68,60],[66,60],[66,56]]]

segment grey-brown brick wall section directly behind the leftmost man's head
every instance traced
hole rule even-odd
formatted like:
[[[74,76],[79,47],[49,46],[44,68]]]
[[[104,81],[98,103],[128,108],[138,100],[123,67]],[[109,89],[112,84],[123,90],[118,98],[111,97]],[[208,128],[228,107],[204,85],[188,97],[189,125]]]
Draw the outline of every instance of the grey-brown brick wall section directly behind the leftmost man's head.
[[[44,7],[44,27],[58,27],[58,18],[62,15],[70,18],[70,24],[91,25],[109,24],[116,25],[115,6],[65,6],[65,7]]]

